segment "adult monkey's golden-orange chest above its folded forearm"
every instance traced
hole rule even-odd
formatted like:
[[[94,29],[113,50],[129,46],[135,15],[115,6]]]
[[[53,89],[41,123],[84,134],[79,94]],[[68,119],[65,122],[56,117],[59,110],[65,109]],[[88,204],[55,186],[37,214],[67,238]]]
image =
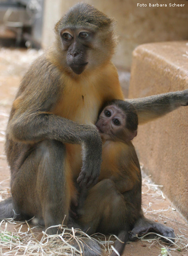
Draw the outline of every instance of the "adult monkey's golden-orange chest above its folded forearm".
[[[111,99],[123,99],[123,94],[116,69],[109,65],[100,74],[81,76],[78,80],[62,77],[62,89],[53,113],[94,125],[101,106]]]

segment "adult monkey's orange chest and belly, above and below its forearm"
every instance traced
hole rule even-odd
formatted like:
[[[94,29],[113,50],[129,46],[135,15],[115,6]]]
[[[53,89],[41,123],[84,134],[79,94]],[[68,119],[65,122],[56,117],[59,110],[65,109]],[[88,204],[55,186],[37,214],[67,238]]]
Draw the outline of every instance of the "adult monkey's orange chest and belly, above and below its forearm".
[[[110,76],[100,77],[102,79],[90,77],[87,80],[67,80],[66,84],[62,86],[52,113],[81,124],[95,125],[98,112],[104,102],[122,98],[121,90],[117,90],[118,81],[116,81],[116,87],[115,81],[110,79]],[[71,169],[78,175],[82,163],[81,146],[67,144],[66,147]]]

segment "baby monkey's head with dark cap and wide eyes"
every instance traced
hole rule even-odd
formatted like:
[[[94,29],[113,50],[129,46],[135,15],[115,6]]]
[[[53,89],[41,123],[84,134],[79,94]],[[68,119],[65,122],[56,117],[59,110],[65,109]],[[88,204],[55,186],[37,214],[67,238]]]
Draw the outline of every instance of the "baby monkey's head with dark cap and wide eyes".
[[[95,125],[103,142],[111,140],[128,143],[137,135],[136,108],[131,103],[118,99],[107,102]]]

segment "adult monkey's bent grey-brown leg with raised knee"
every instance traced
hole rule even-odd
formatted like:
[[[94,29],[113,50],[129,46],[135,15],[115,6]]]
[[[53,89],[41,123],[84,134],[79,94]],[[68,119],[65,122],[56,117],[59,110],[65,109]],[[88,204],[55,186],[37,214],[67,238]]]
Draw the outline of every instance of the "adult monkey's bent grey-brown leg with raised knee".
[[[68,218],[72,184],[65,155],[64,144],[43,140],[12,177],[15,209],[21,216],[43,219],[46,228],[61,224],[65,215]],[[57,233],[57,228],[48,233]]]

